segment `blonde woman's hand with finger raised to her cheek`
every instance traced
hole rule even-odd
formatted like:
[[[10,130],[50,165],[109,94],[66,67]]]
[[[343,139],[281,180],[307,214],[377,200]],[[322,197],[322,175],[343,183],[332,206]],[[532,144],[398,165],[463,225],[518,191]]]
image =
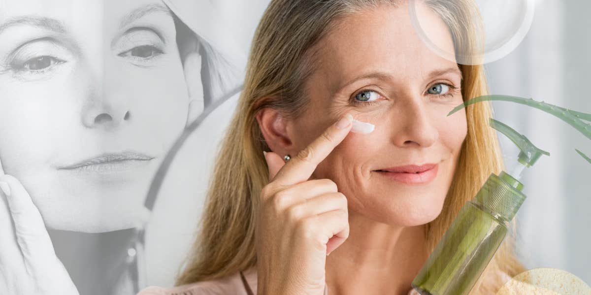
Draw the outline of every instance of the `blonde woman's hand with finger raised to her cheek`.
[[[309,179],[352,121],[343,116],[287,163],[265,155],[270,182],[256,222],[259,295],[324,294],[326,256],[349,236],[347,199],[332,180]]]

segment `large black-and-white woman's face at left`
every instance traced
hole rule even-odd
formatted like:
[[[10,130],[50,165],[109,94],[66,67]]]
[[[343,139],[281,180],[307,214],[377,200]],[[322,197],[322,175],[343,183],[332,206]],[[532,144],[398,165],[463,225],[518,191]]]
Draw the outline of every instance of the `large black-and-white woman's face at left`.
[[[53,229],[120,229],[186,125],[161,1],[0,0],[0,160]]]

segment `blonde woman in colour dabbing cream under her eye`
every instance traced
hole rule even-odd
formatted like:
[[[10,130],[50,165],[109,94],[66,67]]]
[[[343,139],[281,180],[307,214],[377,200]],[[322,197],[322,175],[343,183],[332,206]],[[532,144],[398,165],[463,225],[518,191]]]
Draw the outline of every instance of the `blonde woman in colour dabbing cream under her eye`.
[[[417,1],[444,49],[478,48],[472,1]],[[430,51],[407,1],[274,0],[177,287],[141,294],[408,294],[502,169],[483,67]],[[375,125],[350,133],[352,119]],[[263,152],[266,152],[265,154]],[[329,256],[330,254],[330,256]],[[475,292],[522,270],[509,240]]]

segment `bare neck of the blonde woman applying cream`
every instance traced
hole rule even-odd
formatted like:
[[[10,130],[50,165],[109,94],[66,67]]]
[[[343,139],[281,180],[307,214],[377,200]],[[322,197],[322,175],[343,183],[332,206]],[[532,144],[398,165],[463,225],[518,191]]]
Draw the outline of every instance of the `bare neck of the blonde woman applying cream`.
[[[329,294],[408,294],[427,260],[424,226],[372,221],[349,210],[349,238],[326,258]]]

